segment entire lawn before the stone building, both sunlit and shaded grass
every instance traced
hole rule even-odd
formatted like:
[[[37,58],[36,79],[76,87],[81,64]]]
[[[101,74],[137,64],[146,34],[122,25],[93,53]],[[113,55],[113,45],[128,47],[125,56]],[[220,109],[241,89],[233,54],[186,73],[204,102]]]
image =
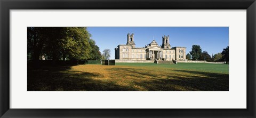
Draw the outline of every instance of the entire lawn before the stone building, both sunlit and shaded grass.
[[[229,90],[228,65],[116,63],[28,68],[28,90]]]

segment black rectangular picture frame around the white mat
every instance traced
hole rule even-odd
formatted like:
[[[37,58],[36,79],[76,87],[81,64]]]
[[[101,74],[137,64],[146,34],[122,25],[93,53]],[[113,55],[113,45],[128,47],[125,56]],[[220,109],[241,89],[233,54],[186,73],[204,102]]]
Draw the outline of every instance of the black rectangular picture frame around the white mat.
[[[255,117],[255,0],[0,0],[1,117]],[[198,9],[246,10],[246,109],[12,109],[10,108],[10,10]],[[234,103],[235,104],[235,103]]]

